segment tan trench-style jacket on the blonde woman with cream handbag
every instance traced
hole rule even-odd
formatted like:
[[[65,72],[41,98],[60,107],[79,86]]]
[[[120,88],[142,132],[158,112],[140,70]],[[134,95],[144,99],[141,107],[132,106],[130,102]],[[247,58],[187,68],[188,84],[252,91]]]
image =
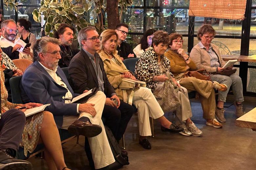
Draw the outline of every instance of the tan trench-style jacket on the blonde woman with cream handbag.
[[[114,56],[115,56],[115,59],[117,59],[117,61],[120,63],[120,65],[118,65],[112,59],[109,59],[109,57],[103,50],[100,50],[98,54],[100,58],[103,60],[104,70],[110,84],[114,87],[118,97],[120,99],[123,99],[123,91],[122,89],[118,89],[118,86],[122,82],[122,77],[121,77],[122,74],[124,74],[124,72],[127,72],[129,70],[127,70],[127,68],[125,67],[120,56],[117,55],[117,51],[114,53]]]

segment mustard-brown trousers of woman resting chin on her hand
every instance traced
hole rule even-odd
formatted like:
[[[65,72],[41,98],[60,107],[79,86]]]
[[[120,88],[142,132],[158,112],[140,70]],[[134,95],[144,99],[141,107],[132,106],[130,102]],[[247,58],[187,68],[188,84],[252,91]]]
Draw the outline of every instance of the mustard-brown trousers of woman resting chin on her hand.
[[[212,88],[211,81],[201,80],[196,77],[185,77],[178,79],[181,86],[185,87],[188,92],[196,91],[199,94],[203,109],[203,118],[215,119],[215,92]]]

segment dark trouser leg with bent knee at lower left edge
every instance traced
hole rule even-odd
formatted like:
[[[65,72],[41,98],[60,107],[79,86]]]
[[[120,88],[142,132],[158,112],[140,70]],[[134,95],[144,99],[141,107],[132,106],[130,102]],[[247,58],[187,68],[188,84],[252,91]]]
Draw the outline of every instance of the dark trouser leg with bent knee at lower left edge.
[[[0,149],[19,148],[26,117],[21,110],[11,109],[1,114],[0,119]]]

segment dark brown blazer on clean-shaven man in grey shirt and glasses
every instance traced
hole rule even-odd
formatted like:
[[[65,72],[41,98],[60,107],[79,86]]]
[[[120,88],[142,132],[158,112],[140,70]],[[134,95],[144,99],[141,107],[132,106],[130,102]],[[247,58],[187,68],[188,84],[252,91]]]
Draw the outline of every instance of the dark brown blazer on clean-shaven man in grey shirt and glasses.
[[[107,97],[110,97],[112,93],[116,92],[108,81],[101,58],[99,58],[99,65],[104,80],[104,93]],[[73,57],[69,64],[68,71],[73,82],[72,88],[75,93],[81,94],[84,90],[99,87],[98,78],[93,64],[83,49]]]

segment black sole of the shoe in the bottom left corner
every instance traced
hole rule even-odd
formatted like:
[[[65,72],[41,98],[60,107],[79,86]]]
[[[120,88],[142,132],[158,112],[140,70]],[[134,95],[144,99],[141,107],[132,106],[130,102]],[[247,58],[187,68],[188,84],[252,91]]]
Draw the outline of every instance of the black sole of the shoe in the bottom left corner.
[[[0,163],[0,170],[31,170],[32,164],[26,162]]]

